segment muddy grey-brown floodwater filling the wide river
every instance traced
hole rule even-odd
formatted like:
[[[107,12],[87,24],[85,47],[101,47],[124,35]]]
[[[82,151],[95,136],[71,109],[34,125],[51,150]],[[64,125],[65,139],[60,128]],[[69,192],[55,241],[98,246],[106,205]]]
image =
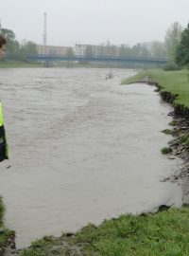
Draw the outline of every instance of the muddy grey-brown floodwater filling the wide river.
[[[161,182],[178,159],[160,149],[171,138],[170,106],[146,84],[120,85],[134,70],[0,69],[10,160],[0,193],[17,246],[76,231],[121,213],[181,203]],[[7,168],[11,165],[10,168]]]

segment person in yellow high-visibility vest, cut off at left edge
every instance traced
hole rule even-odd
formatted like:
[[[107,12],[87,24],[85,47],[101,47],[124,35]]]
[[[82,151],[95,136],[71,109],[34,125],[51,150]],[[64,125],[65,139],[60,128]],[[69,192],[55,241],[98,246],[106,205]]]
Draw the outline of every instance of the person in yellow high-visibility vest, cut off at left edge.
[[[2,60],[4,57],[4,46],[6,45],[6,43],[6,39],[0,35],[0,60]],[[0,162],[8,158],[8,144],[3,121],[2,104],[0,101]]]

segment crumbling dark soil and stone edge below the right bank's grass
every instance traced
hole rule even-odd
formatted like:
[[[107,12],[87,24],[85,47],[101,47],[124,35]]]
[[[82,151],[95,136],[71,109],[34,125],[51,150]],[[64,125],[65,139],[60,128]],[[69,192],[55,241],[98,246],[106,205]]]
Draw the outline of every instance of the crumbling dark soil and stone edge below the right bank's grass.
[[[172,153],[168,156],[170,159],[174,155],[179,156],[183,160],[183,164],[177,174],[167,178],[171,181],[178,181],[183,189],[183,205],[189,204],[189,108],[181,104],[175,104],[174,101],[179,95],[173,95],[170,92],[162,91],[162,87],[157,82],[147,82],[150,85],[157,87],[156,91],[160,92],[163,101],[170,103],[173,106],[173,111],[168,115],[173,118],[172,122],[172,136],[173,139],[169,141],[169,147]]]

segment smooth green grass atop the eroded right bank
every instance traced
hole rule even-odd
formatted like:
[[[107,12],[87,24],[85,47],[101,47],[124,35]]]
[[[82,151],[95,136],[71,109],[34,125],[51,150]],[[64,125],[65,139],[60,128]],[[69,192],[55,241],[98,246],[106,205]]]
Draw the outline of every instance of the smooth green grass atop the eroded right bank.
[[[146,79],[152,82],[158,82],[161,90],[179,95],[174,101],[176,104],[181,104],[189,107],[189,81],[187,79],[186,70],[179,71],[163,71],[162,69],[143,70],[136,76],[127,79],[123,84],[131,82],[145,82]]]

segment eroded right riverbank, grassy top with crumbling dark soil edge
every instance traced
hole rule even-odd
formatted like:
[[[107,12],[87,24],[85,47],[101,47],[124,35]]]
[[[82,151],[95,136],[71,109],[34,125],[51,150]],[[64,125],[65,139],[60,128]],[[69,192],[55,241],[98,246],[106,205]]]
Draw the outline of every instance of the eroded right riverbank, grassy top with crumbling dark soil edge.
[[[182,203],[188,205],[189,196],[189,104],[188,104],[188,78],[185,70],[166,72],[163,70],[152,69],[139,72],[138,75],[126,80],[128,82],[147,82],[148,84],[155,85],[157,91],[163,101],[170,103],[173,106],[173,111],[169,116],[173,118],[171,121],[172,129],[165,130],[165,133],[173,136],[168,142],[168,150],[170,149],[171,155],[169,158],[173,159],[174,156],[181,158],[181,165],[177,174],[168,177],[165,180],[176,181],[182,187]]]

